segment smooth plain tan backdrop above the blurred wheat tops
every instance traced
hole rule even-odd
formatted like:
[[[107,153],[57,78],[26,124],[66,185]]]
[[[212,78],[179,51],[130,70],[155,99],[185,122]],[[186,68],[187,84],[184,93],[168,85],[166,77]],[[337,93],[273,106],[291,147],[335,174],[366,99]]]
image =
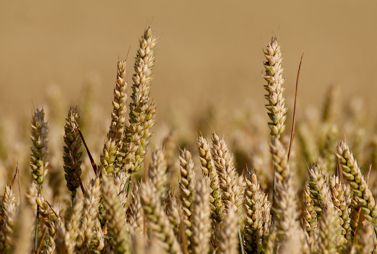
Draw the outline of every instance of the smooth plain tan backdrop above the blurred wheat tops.
[[[138,38],[150,23],[161,35],[152,87],[158,119],[171,108],[254,101],[267,121],[262,50],[273,35],[284,52],[290,109],[303,52],[299,110],[322,105],[330,84],[345,101],[373,102],[376,10],[375,1],[2,1],[0,116],[29,117],[52,84],[67,111],[94,77],[93,99],[110,117],[118,56],[130,47],[130,87]]]

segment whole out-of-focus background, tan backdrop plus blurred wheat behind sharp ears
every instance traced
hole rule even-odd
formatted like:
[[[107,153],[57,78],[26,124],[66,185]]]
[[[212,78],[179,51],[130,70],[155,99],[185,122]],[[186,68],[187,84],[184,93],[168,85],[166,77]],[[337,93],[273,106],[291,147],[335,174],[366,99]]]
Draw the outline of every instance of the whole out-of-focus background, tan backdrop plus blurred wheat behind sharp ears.
[[[158,105],[152,147],[169,137],[176,158],[178,145],[197,153],[196,136],[210,138],[215,130],[228,138],[239,171],[248,165],[264,186],[271,184],[272,174],[265,173],[272,164],[263,49],[278,36],[286,77],[286,147],[304,53],[295,136],[300,145],[293,145],[291,168],[302,170],[305,179],[307,163],[317,158],[320,163],[326,152],[335,165],[335,144],[346,138],[368,170],[369,163],[377,165],[376,10],[377,2],[347,0],[2,1],[0,188],[17,163],[28,176],[24,181],[30,176],[29,121],[37,107],[49,121],[51,186],[66,191],[62,137],[71,104],[78,105],[80,128],[99,162],[118,58],[129,52],[130,94],[138,39],[149,24],[161,36],[151,93]],[[332,112],[327,118],[326,105]],[[92,169],[86,155],[83,160],[86,179]]]

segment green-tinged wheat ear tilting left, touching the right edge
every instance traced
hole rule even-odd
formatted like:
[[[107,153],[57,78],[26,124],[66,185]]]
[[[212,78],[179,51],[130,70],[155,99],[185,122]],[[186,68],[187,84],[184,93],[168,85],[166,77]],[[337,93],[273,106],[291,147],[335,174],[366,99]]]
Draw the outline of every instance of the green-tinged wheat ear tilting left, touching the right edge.
[[[356,159],[354,159],[345,142],[342,141],[340,145],[337,145],[336,155],[342,166],[343,175],[352,189],[353,199],[359,204],[365,219],[375,223],[377,218],[375,199],[357,165]]]

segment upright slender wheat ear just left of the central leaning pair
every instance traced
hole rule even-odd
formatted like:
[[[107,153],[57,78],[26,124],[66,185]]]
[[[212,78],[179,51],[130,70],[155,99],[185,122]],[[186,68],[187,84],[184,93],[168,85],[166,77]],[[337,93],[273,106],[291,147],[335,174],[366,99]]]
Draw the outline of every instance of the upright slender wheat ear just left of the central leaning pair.
[[[190,151],[187,148],[181,150],[179,154],[181,164],[181,182],[179,182],[179,195],[184,211],[183,222],[186,226],[187,245],[191,245],[192,236],[192,213],[194,210],[193,199],[195,191],[195,169]],[[192,251],[190,249],[189,251]]]

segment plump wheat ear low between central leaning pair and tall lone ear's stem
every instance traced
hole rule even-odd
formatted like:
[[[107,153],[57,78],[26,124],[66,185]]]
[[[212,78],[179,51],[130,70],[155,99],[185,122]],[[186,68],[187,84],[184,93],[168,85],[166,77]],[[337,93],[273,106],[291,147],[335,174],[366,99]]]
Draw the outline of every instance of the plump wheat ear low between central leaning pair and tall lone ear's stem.
[[[248,253],[259,253],[263,240],[264,208],[267,196],[261,190],[254,171],[247,174],[245,190],[245,249]],[[268,216],[268,215],[267,215]]]

